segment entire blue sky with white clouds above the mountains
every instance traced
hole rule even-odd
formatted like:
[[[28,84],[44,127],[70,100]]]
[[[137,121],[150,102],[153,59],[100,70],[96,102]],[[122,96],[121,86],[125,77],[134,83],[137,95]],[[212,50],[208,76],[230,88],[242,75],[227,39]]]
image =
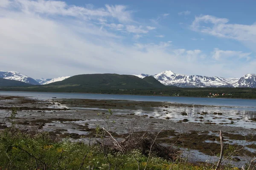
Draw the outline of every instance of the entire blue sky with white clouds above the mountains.
[[[256,1],[0,0],[0,70],[242,77],[256,73]]]

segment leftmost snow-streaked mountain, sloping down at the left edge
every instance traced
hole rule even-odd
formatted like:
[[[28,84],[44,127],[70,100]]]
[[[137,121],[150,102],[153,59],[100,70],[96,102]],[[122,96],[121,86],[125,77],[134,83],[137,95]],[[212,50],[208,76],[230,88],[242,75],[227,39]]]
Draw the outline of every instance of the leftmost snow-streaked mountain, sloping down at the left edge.
[[[17,71],[0,71],[0,78],[17,80],[21,82],[26,82],[32,85],[39,85],[35,79],[28,77],[24,74],[21,74]]]

